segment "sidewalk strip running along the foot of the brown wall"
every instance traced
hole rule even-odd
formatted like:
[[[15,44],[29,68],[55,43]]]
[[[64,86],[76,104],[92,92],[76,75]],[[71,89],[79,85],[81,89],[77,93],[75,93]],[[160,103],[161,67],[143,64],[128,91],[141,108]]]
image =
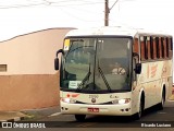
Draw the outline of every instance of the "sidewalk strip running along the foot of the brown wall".
[[[21,111],[0,111],[1,121],[37,120],[60,112],[59,106]]]

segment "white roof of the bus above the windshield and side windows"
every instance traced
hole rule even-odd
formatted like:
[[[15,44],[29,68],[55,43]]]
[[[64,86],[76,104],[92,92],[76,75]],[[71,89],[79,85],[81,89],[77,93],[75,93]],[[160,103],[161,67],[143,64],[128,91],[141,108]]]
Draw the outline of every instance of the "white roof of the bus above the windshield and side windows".
[[[128,28],[123,26],[103,26],[103,27],[94,27],[94,28],[85,28],[85,29],[72,29],[66,34],[69,36],[132,36],[138,37],[138,35],[142,36],[171,36],[163,32],[154,32],[154,31],[145,31],[137,28]],[[172,37],[172,36],[171,36]]]

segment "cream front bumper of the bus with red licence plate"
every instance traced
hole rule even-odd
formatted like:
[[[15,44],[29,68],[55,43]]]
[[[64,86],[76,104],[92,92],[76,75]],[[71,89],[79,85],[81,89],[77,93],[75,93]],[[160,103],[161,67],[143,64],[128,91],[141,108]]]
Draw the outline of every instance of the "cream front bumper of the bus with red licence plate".
[[[61,112],[64,115],[108,115],[108,116],[130,116],[130,104],[123,105],[88,105],[67,104],[61,102]]]

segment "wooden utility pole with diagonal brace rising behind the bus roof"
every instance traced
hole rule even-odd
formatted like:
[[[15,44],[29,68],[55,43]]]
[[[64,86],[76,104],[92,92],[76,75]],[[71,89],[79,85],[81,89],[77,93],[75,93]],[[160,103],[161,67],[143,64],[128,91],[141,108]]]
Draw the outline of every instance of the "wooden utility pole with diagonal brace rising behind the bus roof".
[[[111,8],[109,8],[109,0],[105,0],[104,2],[104,26],[109,26],[109,14],[110,11],[112,10],[112,8],[119,2],[119,0],[116,0],[113,5]]]

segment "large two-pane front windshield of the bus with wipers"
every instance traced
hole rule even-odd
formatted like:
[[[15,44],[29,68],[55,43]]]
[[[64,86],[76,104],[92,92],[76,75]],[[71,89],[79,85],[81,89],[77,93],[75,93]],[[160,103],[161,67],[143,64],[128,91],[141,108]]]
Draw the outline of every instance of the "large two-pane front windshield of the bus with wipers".
[[[72,92],[130,91],[129,37],[66,38],[61,90]]]

